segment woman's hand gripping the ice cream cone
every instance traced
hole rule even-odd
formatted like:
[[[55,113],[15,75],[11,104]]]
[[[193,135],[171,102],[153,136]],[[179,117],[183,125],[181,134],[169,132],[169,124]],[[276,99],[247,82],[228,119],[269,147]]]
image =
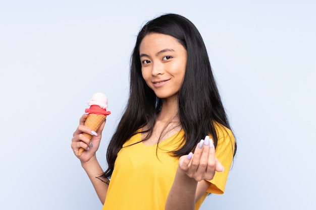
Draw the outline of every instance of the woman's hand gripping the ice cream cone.
[[[93,156],[95,156],[95,152],[99,148],[102,130],[106,120],[102,122],[99,129],[94,132],[91,128],[84,126],[84,122],[86,121],[88,114],[84,114],[81,116],[79,121],[79,126],[73,134],[71,148],[75,154],[75,156],[81,161],[81,163],[88,162]],[[83,133],[92,134],[91,140],[88,137],[84,136]],[[83,153],[78,156],[79,148],[83,148]]]

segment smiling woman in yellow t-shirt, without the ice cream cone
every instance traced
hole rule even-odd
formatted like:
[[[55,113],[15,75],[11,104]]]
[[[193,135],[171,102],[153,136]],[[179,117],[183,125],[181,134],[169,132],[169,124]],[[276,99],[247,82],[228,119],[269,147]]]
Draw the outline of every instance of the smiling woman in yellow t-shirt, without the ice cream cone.
[[[204,42],[186,18],[163,15],[140,30],[105,172],[95,156],[105,122],[95,132],[86,118],[72,149],[76,156],[85,149],[77,157],[103,209],[198,209],[208,193],[224,193],[235,138]],[[83,132],[94,134],[91,141]]]

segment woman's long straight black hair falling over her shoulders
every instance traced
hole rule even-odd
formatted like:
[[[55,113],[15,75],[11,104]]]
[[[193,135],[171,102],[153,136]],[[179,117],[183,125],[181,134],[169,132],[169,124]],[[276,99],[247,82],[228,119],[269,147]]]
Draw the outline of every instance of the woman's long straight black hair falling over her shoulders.
[[[230,129],[200,33],[193,23],[183,16],[160,16],[146,23],[137,36],[131,57],[129,100],[108,147],[109,168],[102,174],[104,178],[111,177],[118,152],[140,127],[147,125],[149,133],[152,132],[156,114],[163,104],[163,99],[156,97],[141,74],[139,45],[150,33],[170,35],[187,50],[186,72],[178,99],[178,116],[185,133],[185,144],[179,150],[173,151],[173,155],[187,155],[208,133],[213,136],[216,147],[218,141],[215,122]],[[235,155],[236,144],[233,150]]]

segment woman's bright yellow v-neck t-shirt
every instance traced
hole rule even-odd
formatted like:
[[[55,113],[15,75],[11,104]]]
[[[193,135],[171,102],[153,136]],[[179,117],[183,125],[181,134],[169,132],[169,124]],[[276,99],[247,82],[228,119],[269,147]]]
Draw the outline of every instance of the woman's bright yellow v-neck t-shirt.
[[[200,207],[208,192],[224,193],[231,167],[234,136],[228,128],[222,125],[216,127],[219,139],[216,157],[226,170],[223,173],[216,172],[213,180],[210,180],[207,192],[197,201],[195,209]],[[182,145],[183,136],[184,131],[181,130],[160,142],[158,148],[157,145],[145,146],[140,142],[140,133],[132,136],[118,153],[102,210],[165,209],[179,161],[179,158],[172,157],[168,152]]]

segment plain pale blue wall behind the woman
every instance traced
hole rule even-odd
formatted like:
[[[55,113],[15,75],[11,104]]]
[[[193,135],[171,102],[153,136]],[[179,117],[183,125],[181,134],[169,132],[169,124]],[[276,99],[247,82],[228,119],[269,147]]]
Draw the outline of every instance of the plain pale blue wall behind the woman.
[[[225,194],[201,209],[315,209],[315,8],[315,1],[0,1],[0,208],[101,208],[72,154],[72,133],[86,101],[106,93],[112,114],[97,154],[106,168],[135,37],[146,21],[172,12],[200,30],[238,140]]]

